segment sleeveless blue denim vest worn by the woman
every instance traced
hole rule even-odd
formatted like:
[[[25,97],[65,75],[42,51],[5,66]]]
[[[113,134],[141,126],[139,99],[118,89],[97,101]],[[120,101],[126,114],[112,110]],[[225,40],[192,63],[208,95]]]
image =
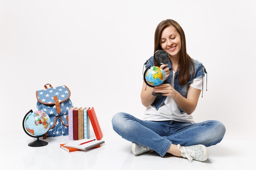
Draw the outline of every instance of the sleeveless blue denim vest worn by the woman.
[[[150,57],[145,63],[145,68],[148,68],[148,67],[151,67],[151,66],[154,66],[154,56]],[[192,59],[193,60],[193,59]],[[198,62],[197,60],[193,60],[194,62],[194,65],[195,65],[195,75],[192,75],[192,73],[190,74],[190,79],[188,81],[187,84],[182,84],[182,85],[179,85],[178,84],[178,75],[179,75],[179,70],[176,72],[175,76],[174,76],[174,89],[179,92],[183,97],[186,98],[187,96],[187,93],[188,93],[188,89],[189,89],[189,84],[191,82],[193,82],[193,79],[194,78],[200,78],[200,77],[204,77],[205,76],[205,73],[207,74],[207,71],[206,69],[204,68],[204,66],[202,65],[202,63]],[[173,77],[173,69],[172,69],[172,66],[171,66],[171,62],[169,61],[168,63],[168,67],[170,68],[170,75],[167,77],[166,79],[166,82],[171,84],[171,79]],[[155,101],[153,102],[152,106],[158,110],[159,107],[162,106],[162,104],[164,103],[164,100],[166,99],[166,96],[162,96],[162,95],[159,95],[155,98]],[[184,111],[180,110],[180,113],[183,114]]]

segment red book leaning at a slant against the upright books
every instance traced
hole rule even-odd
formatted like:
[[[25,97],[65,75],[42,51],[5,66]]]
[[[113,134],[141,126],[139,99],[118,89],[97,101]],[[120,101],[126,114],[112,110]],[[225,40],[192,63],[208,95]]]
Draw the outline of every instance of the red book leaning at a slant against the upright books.
[[[90,118],[90,121],[91,121],[91,124],[92,124],[92,128],[94,130],[96,139],[101,140],[101,138],[103,137],[103,134],[102,134],[102,131],[101,131],[101,127],[99,126],[99,121],[97,119],[94,108],[92,107],[91,109],[87,110],[87,114]]]

